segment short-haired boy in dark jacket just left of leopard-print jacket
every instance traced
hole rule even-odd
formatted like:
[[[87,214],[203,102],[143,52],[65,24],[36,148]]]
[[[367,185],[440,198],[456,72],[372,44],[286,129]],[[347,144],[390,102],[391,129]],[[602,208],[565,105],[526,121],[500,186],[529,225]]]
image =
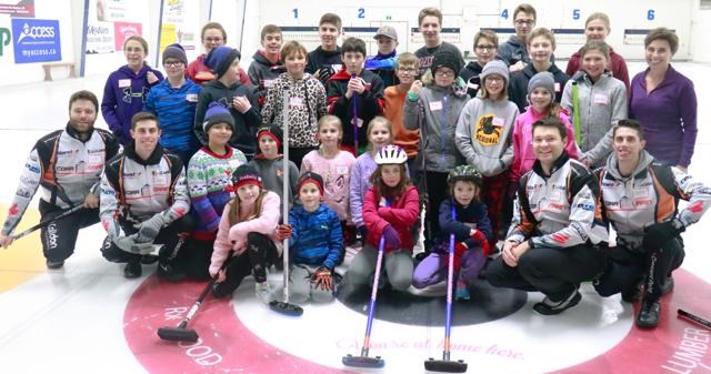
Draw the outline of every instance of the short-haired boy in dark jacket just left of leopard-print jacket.
[[[261,108],[267,98],[267,90],[272,85],[277,77],[283,73],[284,65],[281,63],[281,29],[276,24],[267,24],[262,28],[262,48],[252,55],[252,63],[249,64],[247,74],[250,83],[254,87],[254,95]]]

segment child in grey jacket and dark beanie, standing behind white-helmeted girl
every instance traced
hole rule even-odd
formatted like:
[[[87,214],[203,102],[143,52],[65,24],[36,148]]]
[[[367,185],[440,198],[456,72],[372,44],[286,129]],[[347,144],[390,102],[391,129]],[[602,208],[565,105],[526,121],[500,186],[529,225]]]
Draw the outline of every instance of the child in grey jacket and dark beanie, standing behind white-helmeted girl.
[[[404,103],[405,128],[420,129],[422,137],[417,169],[422,174],[420,183],[424,183],[424,188],[421,191],[424,191],[428,205],[428,244],[439,231],[437,206],[447,194],[449,170],[464,163],[454,145],[457,120],[469,100],[465,88],[458,88],[454,83],[460,69],[455,54],[435,53],[431,73],[424,74],[422,81],[412,83]],[[423,83],[427,87],[422,87]]]

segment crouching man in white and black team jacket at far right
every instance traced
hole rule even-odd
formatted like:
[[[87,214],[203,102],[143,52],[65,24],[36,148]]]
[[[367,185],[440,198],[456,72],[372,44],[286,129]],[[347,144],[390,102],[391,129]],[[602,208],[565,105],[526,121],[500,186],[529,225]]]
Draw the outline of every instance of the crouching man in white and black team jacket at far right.
[[[642,305],[635,323],[654,328],[660,296],[673,287],[671,272],[681,265],[680,233],[699,221],[711,203],[711,189],[678,168],[663,165],[644,150],[640,122],[622,120],[612,132],[614,153],[598,170],[603,213],[618,232],[611,262],[595,282],[602,296],[622,292],[622,300]],[[689,205],[679,211],[679,199]]]

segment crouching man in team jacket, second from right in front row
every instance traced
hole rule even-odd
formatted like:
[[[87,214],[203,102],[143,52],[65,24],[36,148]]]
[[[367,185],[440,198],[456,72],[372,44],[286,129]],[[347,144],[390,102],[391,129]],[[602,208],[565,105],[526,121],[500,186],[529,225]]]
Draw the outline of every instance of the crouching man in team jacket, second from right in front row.
[[[580,282],[603,269],[608,230],[598,181],[564,153],[565,125],[548,117],[533,122],[532,131],[537,161],[521,176],[512,229],[487,279],[499,287],[542,292],[545,299],[533,310],[553,315],[577,305]]]

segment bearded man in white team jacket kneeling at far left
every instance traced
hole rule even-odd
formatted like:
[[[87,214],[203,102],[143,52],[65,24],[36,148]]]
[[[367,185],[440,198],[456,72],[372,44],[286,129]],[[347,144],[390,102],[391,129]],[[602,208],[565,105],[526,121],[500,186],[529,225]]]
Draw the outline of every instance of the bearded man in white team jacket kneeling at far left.
[[[99,222],[99,182],[106,160],[119,151],[111,132],[94,129],[99,100],[89,91],[69,98],[69,123],[34,143],[20,176],[20,185],[0,234],[0,245],[12,244],[12,231],[20,223],[38,188],[41,188],[40,214],[49,221],[69,209],[84,209],[41,228],[42,252],[47,267],[60,269],[74,252],[79,229]]]

